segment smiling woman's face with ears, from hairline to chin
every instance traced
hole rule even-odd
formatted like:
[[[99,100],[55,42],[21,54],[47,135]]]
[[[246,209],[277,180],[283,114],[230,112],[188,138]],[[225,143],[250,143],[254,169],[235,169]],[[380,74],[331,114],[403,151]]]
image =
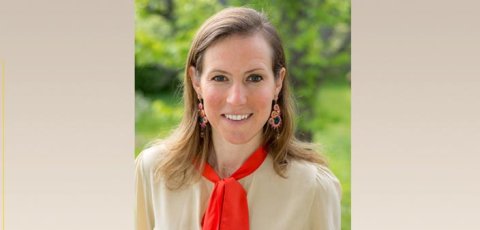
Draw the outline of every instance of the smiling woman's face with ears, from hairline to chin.
[[[205,51],[200,78],[193,77],[194,67],[189,71],[214,139],[232,144],[261,141],[285,69],[275,80],[272,50],[260,34],[218,41]]]

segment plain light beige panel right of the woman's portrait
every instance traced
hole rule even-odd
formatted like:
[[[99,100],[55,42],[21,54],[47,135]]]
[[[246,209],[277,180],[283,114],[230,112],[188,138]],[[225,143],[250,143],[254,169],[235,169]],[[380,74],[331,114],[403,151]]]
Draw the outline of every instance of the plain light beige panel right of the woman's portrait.
[[[480,229],[480,3],[352,4],[352,228]]]

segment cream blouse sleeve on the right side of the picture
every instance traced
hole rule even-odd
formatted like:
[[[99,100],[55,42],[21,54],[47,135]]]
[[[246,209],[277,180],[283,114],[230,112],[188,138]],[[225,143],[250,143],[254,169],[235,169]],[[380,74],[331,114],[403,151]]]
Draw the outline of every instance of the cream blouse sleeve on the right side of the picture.
[[[340,230],[341,187],[329,169],[319,166],[310,209],[310,229]]]

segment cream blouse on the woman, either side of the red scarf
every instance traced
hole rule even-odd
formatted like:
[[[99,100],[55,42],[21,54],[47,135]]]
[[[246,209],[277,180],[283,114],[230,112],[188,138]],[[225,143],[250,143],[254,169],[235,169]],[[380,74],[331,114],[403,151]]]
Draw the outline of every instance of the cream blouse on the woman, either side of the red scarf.
[[[169,190],[161,179],[154,179],[161,152],[152,147],[136,160],[136,229],[201,229],[214,184],[202,177],[187,188]],[[286,175],[277,175],[267,156],[255,172],[239,180],[247,191],[250,229],[339,230],[341,191],[333,173],[317,164],[292,161]]]

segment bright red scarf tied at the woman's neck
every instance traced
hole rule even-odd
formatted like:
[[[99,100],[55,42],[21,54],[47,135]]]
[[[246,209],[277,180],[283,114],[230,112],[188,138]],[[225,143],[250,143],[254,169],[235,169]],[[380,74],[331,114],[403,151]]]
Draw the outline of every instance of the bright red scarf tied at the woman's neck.
[[[240,180],[263,163],[267,153],[260,146],[230,177],[221,179],[212,166],[205,164],[203,176],[215,183],[202,219],[203,230],[248,230],[247,192]]]

